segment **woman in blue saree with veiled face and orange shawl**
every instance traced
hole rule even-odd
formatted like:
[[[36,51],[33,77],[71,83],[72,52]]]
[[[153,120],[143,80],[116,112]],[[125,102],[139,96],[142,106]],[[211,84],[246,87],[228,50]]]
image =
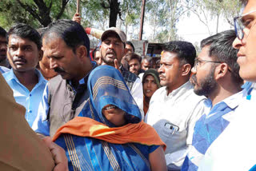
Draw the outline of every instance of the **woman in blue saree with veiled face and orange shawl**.
[[[98,66],[88,79],[82,112],[58,129],[70,170],[166,170],[161,141],[141,113],[122,74]]]

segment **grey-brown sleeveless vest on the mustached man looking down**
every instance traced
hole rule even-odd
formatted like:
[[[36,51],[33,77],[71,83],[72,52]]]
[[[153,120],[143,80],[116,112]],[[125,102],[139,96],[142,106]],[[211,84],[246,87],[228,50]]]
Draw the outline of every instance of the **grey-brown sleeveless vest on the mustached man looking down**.
[[[60,75],[49,81],[48,103],[50,109],[47,119],[50,121],[50,137],[54,136],[60,126],[78,116],[81,112],[89,98],[87,78],[84,78],[85,84],[78,85],[76,92]]]

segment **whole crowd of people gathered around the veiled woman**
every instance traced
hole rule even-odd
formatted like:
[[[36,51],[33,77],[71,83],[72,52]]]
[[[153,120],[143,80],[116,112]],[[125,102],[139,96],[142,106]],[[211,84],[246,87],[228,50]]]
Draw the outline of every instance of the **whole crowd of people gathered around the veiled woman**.
[[[234,30],[136,54],[111,27],[90,56],[75,14],[0,27],[1,170],[256,170],[256,2]]]

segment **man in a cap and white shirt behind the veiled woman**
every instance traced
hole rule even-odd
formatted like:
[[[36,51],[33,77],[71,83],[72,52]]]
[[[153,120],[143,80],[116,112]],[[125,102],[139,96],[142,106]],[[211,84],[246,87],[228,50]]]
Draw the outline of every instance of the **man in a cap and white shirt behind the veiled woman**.
[[[126,54],[126,34],[116,27],[111,27],[102,34],[102,45],[100,46],[102,54],[102,65],[114,66],[120,70],[122,77],[130,89],[138,108],[144,117],[143,112],[143,89],[142,82],[137,75],[126,70],[121,65],[121,60]]]

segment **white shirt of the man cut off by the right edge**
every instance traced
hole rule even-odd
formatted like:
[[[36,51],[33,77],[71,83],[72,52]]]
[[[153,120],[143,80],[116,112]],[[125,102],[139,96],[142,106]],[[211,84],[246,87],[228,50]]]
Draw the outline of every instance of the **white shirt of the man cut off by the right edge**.
[[[198,170],[248,171],[256,165],[256,90],[236,109],[236,116],[206,151]]]

